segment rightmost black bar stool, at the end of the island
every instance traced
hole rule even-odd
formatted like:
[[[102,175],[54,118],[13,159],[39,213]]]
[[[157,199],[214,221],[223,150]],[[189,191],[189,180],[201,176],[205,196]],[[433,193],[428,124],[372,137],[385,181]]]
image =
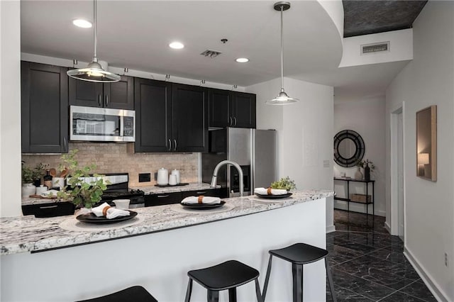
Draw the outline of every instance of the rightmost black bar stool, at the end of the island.
[[[263,286],[263,301],[267,294],[268,281],[271,272],[271,260],[273,256],[292,262],[293,276],[293,302],[303,301],[303,265],[311,262],[316,262],[325,258],[326,274],[328,275],[328,284],[331,291],[331,297],[336,302],[336,294],[334,293],[333,276],[328,263],[328,251],[305,243],[295,243],[289,247],[284,247],[279,250],[270,250],[270,260],[268,262],[267,275],[265,277],[265,285]]]

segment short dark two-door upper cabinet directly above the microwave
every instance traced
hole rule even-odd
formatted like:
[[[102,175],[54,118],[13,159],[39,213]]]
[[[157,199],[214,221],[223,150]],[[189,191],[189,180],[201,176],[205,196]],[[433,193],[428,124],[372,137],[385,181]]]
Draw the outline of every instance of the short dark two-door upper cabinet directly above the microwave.
[[[114,83],[70,79],[70,105],[134,109],[134,79],[121,76]]]

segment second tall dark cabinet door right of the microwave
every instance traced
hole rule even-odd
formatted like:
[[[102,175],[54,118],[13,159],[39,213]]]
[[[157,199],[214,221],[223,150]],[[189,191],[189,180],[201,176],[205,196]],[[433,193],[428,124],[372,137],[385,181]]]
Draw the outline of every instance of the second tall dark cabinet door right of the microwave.
[[[208,151],[208,89],[172,84],[172,134],[175,152]]]

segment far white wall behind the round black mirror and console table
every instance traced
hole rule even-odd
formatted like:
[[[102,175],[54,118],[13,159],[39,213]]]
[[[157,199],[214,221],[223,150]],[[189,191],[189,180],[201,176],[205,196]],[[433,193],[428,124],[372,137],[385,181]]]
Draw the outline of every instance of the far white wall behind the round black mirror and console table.
[[[335,97],[336,98],[336,97]],[[370,160],[375,164],[375,170],[371,173],[371,179],[375,180],[375,215],[385,216],[384,202],[384,178],[387,174],[385,165],[385,125],[384,125],[384,96],[364,101],[345,102],[334,104],[334,133],[341,130],[354,130],[364,140],[365,154],[363,160]],[[334,163],[334,175],[354,178],[357,167],[345,168]],[[364,169],[361,169],[364,174]],[[372,186],[370,190],[372,190]],[[339,197],[346,197],[344,181],[335,181],[334,189]],[[365,184],[350,183],[350,194],[365,194]],[[370,192],[370,191],[369,191]],[[370,193],[369,193],[370,194]],[[335,208],[347,209],[345,201],[335,201]],[[365,206],[360,203],[350,203],[350,210],[365,213]],[[369,213],[372,213],[372,206],[369,206]]]

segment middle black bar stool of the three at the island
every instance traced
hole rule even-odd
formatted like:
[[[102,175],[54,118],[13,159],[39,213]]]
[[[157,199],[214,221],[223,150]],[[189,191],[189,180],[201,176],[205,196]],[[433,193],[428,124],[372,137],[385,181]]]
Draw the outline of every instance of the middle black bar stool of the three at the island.
[[[258,284],[258,270],[236,260],[229,260],[214,267],[206,269],[194,269],[187,272],[189,282],[187,284],[185,302],[189,302],[192,293],[192,280],[208,290],[207,301],[219,301],[219,291],[228,289],[228,301],[236,302],[236,288],[250,281],[255,281],[255,294],[258,302],[263,302]]]

